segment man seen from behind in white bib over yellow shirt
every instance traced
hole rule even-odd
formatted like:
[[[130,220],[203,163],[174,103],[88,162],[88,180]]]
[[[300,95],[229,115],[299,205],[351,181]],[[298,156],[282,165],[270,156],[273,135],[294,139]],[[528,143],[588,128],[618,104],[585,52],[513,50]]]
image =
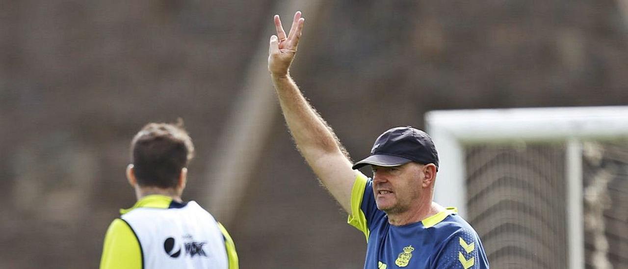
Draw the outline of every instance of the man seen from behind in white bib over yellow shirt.
[[[135,135],[126,176],[138,202],[111,222],[100,268],[238,268],[227,230],[181,199],[193,155],[181,123],[150,123]]]

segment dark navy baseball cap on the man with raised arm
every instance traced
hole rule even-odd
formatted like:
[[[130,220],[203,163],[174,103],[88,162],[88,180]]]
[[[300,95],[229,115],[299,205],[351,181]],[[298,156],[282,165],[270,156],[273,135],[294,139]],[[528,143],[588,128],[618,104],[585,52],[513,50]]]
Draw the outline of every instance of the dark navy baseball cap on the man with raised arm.
[[[420,129],[396,127],[380,135],[371,149],[371,155],[354,164],[358,169],[365,165],[396,167],[409,162],[423,165],[434,163],[438,170],[438,153],[431,137]]]

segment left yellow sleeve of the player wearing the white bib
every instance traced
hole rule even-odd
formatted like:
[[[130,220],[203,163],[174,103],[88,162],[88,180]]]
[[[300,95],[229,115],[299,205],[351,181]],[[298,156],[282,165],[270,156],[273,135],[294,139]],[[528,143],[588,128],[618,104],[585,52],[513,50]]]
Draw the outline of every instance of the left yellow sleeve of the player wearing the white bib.
[[[107,229],[100,258],[100,269],[141,269],[142,251],[131,226],[114,219]]]

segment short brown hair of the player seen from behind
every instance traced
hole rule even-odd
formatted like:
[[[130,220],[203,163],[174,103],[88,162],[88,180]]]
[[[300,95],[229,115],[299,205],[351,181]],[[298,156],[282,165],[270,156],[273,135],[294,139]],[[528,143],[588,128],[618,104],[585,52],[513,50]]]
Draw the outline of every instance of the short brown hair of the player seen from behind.
[[[131,162],[140,186],[173,188],[194,156],[192,138],[176,124],[149,123],[131,141]]]

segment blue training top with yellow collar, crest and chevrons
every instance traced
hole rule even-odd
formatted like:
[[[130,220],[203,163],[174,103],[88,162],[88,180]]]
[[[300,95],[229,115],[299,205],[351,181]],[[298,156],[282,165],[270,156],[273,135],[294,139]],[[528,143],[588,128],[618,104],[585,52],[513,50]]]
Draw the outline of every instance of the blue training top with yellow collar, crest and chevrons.
[[[351,194],[349,224],[367,238],[364,268],[489,268],[475,230],[455,207],[420,222],[394,226],[377,209],[373,182],[359,173]]]

